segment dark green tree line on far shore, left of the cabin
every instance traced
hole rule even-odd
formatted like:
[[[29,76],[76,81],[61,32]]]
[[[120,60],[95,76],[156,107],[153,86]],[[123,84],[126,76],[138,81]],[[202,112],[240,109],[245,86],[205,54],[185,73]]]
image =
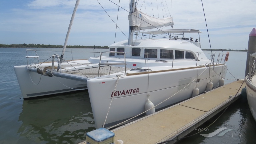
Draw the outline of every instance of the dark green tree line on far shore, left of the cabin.
[[[63,45],[45,45],[45,44],[0,44],[0,48],[63,48]],[[66,46],[66,48],[94,48],[94,46]],[[95,48],[108,48],[108,46],[95,46]]]

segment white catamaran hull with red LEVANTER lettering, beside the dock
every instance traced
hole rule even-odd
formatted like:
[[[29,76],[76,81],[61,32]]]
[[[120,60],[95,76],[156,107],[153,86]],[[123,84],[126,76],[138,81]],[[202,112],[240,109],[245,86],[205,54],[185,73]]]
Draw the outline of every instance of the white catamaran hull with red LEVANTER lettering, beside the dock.
[[[218,74],[224,77],[226,68],[218,65],[215,66],[214,71],[211,70],[210,79],[215,88],[219,85],[221,78]],[[198,83],[196,83],[197,76],[200,79]],[[103,126],[112,98],[105,127],[113,126],[144,112],[148,95],[154,105],[172,96],[155,107],[160,109],[191,98],[196,84],[199,93],[204,92],[208,81],[209,68],[207,67],[121,76],[119,79],[118,77],[90,79],[87,81],[87,86],[96,128]],[[190,82],[192,83],[189,84]],[[117,87],[114,91],[116,83]]]

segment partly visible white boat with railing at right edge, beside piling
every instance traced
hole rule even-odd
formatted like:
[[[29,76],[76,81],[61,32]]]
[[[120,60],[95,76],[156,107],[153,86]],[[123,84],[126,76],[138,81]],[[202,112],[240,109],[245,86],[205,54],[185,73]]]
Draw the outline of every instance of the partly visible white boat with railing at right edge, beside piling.
[[[256,53],[250,55],[249,74],[245,77],[246,95],[252,116],[256,121]]]

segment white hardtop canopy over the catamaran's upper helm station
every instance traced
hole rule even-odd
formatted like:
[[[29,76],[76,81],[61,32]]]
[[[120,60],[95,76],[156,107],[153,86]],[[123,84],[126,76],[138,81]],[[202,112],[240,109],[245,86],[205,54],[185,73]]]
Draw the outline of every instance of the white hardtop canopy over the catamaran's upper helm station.
[[[168,33],[202,33],[199,30],[194,29],[172,29],[172,30],[157,30],[142,32],[143,34],[168,34]]]

